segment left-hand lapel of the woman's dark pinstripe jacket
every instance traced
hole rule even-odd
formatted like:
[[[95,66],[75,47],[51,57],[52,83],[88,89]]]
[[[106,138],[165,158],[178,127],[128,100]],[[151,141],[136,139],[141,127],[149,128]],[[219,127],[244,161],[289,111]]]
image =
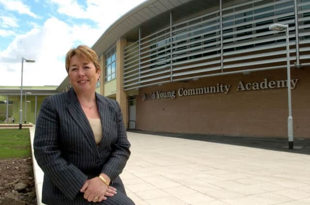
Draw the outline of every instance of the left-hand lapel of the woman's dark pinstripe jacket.
[[[99,157],[99,151],[94,140],[93,130],[91,128],[91,125],[89,124],[89,121],[84,111],[82,110],[82,107],[78,103],[78,97],[73,88],[70,88],[69,91],[67,92],[66,102],[67,102],[67,109],[69,110],[70,115],[83,132],[86,140],[92,147],[93,151]]]

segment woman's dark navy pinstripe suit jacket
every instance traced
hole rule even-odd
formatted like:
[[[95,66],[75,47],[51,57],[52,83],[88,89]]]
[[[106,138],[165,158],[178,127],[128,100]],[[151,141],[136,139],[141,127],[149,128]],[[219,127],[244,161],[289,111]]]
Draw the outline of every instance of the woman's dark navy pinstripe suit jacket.
[[[99,146],[73,88],[42,103],[33,147],[45,174],[43,203],[74,200],[85,180],[100,173],[115,180],[129,158],[130,144],[119,104],[95,95],[103,130]]]

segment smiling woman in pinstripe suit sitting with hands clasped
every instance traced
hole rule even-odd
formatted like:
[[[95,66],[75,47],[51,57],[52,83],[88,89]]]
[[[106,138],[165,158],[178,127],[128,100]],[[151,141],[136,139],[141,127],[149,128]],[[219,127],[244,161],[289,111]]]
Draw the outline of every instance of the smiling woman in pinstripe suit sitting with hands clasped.
[[[35,128],[42,202],[134,205],[119,177],[130,155],[120,106],[95,93],[97,55],[80,45],[67,53],[65,65],[72,88],[44,100]]]

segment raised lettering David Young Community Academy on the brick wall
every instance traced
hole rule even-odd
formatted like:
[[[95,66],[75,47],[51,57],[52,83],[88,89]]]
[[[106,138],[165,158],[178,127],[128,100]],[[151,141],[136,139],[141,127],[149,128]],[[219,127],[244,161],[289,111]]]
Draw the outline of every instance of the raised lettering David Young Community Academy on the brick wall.
[[[291,79],[291,89],[296,87],[298,79]],[[153,91],[151,93],[144,93],[142,95],[142,100],[155,100],[155,99],[175,99],[176,96],[191,96],[191,95],[202,95],[209,93],[224,93],[228,94],[231,85],[224,85],[217,83],[216,86],[208,86],[201,88],[179,88],[178,90],[171,91]],[[275,88],[287,88],[287,80],[271,80],[268,81],[267,78],[264,78],[261,82],[252,82],[244,83],[239,81],[236,91],[248,91],[248,90],[260,90],[260,89],[275,89]]]

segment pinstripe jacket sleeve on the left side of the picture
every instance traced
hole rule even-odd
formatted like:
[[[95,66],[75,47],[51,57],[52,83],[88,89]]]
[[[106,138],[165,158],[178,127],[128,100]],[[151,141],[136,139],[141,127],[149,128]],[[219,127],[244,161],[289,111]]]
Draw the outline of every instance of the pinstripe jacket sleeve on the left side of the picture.
[[[62,158],[58,146],[59,117],[50,97],[44,100],[36,122],[33,149],[38,165],[62,193],[73,200],[87,176]]]

